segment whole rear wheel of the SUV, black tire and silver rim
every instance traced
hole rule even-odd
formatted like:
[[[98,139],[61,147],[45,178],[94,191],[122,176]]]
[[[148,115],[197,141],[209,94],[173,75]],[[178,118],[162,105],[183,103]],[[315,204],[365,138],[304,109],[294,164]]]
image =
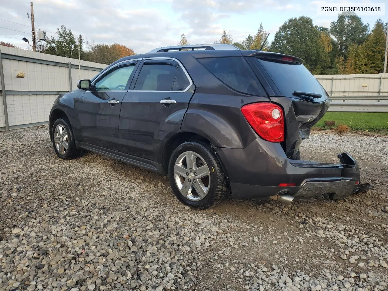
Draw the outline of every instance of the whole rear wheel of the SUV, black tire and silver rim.
[[[204,142],[188,141],[179,145],[171,155],[168,178],[179,201],[197,209],[218,204],[227,192],[220,161]]]

